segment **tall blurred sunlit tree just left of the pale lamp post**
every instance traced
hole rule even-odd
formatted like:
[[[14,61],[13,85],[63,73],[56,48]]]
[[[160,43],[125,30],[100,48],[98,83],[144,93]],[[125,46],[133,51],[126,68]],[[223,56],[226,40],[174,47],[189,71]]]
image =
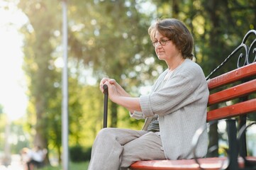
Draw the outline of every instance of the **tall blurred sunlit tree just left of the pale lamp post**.
[[[30,22],[21,30],[25,36],[23,69],[29,82],[29,123],[32,125],[31,132],[35,132],[33,144],[45,148],[48,148],[48,130],[52,128],[49,127],[52,121],[50,115],[60,115],[60,111],[51,107],[51,102],[60,91],[56,90],[57,84],[60,84],[60,72],[56,72],[54,65],[55,43],[58,40],[53,39],[58,39],[57,30],[60,30],[60,18],[55,15],[58,6],[60,9],[57,1],[23,0],[19,4]],[[60,103],[58,106],[60,108]],[[60,147],[60,143],[56,145]]]

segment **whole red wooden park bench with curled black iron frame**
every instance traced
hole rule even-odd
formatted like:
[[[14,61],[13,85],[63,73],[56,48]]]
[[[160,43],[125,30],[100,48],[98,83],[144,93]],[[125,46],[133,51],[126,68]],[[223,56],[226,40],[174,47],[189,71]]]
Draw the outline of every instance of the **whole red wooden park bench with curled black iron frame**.
[[[250,45],[247,41],[250,38]],[[238,57],[237,68],[213,77],[227,62]],[[247,123],[247,115],[256,113],[256,30],[250,30],[242,43],[221,65],[206,77],[210,96],[208,98],[208,126],[226,121],[228,150],[226,157],[197,158],[197,141],[206,128],[196,131],[192,139],[194,159],[149,160],[135,162],[130,169],[256,169],[256,157],[247,156],[246,130],[256,123]],[[256,146],[255,146],[256,147]]]

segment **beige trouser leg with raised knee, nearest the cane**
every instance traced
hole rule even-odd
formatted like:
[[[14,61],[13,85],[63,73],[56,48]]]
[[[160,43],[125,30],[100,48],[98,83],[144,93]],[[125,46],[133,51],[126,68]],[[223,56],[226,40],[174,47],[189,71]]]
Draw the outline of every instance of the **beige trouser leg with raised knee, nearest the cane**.
[[[121,164],[123,145],[147,133],[143,130],[102,129],[91,149],[89,170],[117,170]]]

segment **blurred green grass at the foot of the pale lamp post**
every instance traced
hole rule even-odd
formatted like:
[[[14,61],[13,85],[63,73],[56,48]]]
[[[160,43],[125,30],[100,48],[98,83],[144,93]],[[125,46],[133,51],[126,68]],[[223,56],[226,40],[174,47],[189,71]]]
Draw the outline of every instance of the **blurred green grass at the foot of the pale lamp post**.
[[[69,169],[84,170],[88,169],[89,162],[70,162]],[[62,170],[62,166],[45,166],[40,170]]]

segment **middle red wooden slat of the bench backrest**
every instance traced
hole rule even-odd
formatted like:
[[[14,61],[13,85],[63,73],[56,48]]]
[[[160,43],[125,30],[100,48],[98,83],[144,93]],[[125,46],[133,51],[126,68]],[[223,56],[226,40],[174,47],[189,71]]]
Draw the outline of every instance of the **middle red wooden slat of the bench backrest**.
[[[234,98],[246,96],[256,91],[256,79],[247,81],[244,84],[233,86],[232,88],[218,91],[215,94],[211,94],[208,99],[208,106],[224,101],[230,101]]]

